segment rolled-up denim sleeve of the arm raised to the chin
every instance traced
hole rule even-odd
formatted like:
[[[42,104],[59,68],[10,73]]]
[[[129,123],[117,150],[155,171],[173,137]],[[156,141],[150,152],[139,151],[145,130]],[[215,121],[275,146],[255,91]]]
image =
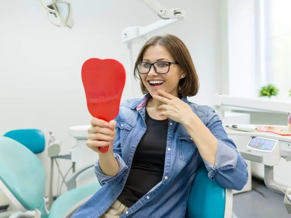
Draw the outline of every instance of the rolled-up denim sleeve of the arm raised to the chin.
[[[211,180],[216,180],[228,189],[242,190],[249,178],[247,163],[236,148],[232,139],[228,138],[222,126],[222,121],[214,109],[208,110],[207,127],[217,138],[215,165],[203,160]]]

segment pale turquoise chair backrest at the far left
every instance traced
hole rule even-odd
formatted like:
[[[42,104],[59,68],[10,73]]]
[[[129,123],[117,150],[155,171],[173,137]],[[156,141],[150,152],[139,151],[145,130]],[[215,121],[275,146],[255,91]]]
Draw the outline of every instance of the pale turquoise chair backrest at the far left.
[[[0,137],[0,182],[14,205],[26,210],[43,206],[45,169],[31,150],[9,137]]]

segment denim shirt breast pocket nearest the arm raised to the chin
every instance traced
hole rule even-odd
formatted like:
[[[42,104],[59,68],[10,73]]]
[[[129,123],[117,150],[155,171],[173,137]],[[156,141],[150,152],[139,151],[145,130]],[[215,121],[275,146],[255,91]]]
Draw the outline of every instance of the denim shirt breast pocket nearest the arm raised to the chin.
[[[179,135],[180,160],[188,162],[196,150],[196,145],[189,135]]]

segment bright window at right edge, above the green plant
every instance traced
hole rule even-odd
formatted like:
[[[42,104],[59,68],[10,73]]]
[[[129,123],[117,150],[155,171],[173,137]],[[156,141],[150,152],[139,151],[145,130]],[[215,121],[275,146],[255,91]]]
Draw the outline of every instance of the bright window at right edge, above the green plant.
[[[279,98],[291,89],[291,1],[260,1],[261,85],[273,83]]]

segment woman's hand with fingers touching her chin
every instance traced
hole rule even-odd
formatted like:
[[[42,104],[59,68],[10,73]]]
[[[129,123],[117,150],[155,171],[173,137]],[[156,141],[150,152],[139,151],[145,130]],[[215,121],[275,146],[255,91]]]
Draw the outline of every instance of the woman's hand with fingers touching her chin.
[[[164,103],[158,107],[159,110],[164,110],[159,114],[160,116],[166,116],[181,124],[185,124],[187,120],[195,116],[191,107],[178,97],[160,89],[158,89],[158,93],[162,96],[152,95],[152,97]]]

